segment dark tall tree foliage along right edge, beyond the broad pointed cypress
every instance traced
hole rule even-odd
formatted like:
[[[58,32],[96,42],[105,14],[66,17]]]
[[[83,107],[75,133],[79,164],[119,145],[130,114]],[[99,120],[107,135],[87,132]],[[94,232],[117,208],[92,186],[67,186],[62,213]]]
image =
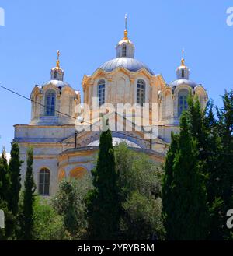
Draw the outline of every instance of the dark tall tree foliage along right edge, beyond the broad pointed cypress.
[[[232,209],[233,184],[233,91],[225,92],[223,107],[217,108],[214,117],[214,103],[209,102],[205,113],[200,104],[190,99],[190,131],[196,138],[202,173],[206,177],[207,201],[210,206],[210,240],[230,239],[226,229],[226,212]],[[198,125],[196,125],[198,124]]]

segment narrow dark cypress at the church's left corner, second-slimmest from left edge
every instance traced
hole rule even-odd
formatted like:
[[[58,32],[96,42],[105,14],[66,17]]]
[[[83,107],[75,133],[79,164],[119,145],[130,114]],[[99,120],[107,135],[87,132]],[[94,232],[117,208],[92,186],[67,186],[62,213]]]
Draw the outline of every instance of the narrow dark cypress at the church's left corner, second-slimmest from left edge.
[[[19,145],[17,142],[12,143],[11,159],[9,161],[9,176],[11,181],[11,191],[9,198],[9,210],[14,216],[19,212],[19,191],[21,189],[20,167],[22,161],[19,160]]]

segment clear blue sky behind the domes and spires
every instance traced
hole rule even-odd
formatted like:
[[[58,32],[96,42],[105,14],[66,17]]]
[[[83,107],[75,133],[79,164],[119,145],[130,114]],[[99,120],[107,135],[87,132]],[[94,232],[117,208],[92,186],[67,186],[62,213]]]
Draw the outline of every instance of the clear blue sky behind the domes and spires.
[[[219,106],[224,89],[233,88],[230,6],[233,0],[3,0],[0,82],[30,96],[35,84],[50,79],[59,49],[64,80],[82,91],[82,76],[115,57],[127,13],[135,57],[171,82],[184,48],[190,79]],[[0,147],[10,150],[13,124],[28,124],[30,108],[30,101],[0,88]]]

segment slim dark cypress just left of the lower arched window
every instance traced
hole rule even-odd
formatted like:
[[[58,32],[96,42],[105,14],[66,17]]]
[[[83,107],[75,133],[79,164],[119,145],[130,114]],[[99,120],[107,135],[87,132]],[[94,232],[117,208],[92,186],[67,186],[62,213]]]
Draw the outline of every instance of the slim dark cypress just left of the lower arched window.
[[[33,149],[27,150],[26,178],[23,191],[23,205],[20,209],[20,238],[32,240],[33,237],[33,202],[36,185],[33,178]]]

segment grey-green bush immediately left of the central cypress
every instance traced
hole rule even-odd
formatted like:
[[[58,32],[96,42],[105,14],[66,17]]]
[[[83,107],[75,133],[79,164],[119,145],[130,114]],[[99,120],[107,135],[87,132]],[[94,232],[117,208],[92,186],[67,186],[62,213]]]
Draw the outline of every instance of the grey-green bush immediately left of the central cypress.
[[[91,188],[92,179],[89,174],[80,179],[63,180],[52,200],[54,209],[63,216],[64,229],[68,230],[72,239],[81,239],[85,235],[87,222],[84,198]]]

